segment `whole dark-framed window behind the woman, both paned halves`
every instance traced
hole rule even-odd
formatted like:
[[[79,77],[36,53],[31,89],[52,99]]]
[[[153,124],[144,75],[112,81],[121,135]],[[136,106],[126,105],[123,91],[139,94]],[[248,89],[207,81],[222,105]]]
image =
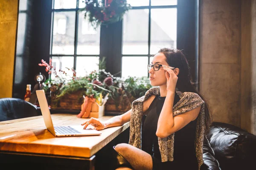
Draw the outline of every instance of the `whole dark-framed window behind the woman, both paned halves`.
[[[183,49],[194,82],[198,82],[199,1],[128,0],[128,3],[133,8],[123,22],[94,31],[78,12],[84,8],[83,0],[42,0],[40,3],[20,0],[13,96],[22,99],[20,87],[26,87],[27,83],[34,85],[35,74],[44,72],[44,68],[33,66],[41,59],[52,58],[56,68],[73,67],[77,75],[82,76],[98,68],[99,57],[106,57],[107,72],[121,76],[123,70],[125,77],[138,77],[148,75],[146,65],[151,62],[151,55],[168,45]],[[163,22],[158,18],[164,19]],[[32,28],[37,31],[31,31]],[[132,67],[138,62],[140,67]],[[124,63],[130,64],[129,67]]]

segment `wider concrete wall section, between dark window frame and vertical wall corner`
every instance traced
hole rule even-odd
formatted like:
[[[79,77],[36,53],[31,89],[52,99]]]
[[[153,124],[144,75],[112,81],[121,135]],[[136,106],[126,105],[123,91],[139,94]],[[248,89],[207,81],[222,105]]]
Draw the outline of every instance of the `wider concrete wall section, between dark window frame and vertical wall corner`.
[[[200,3],[200,92],[214,121],[240,127],[241,0]]]

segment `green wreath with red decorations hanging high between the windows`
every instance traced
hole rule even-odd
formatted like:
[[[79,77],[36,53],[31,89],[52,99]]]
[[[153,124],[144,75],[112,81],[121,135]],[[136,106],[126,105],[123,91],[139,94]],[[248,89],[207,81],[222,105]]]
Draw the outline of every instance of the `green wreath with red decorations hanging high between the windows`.
[[[91,26],[108,25],[122,20],[123,14],[131,8],[127,0],[84,0],[84,19],[88,17]],[[104,4],[103,4],[104,2]]]

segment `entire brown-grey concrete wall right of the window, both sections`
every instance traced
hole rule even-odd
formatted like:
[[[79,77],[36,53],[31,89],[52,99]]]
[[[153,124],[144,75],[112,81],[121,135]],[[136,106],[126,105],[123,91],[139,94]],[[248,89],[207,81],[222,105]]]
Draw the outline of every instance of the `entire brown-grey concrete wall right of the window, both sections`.
[[[214,121],[256,134],[256,0],[200,3],[200,91]]]

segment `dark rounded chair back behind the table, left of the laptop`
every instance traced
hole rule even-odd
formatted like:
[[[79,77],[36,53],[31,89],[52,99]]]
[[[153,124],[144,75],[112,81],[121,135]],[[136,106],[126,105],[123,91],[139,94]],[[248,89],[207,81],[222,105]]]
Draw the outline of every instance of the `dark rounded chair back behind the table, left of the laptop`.
[[[0,121],[38,116],[37,108],[29,102],[17,98],[0,99]]]

